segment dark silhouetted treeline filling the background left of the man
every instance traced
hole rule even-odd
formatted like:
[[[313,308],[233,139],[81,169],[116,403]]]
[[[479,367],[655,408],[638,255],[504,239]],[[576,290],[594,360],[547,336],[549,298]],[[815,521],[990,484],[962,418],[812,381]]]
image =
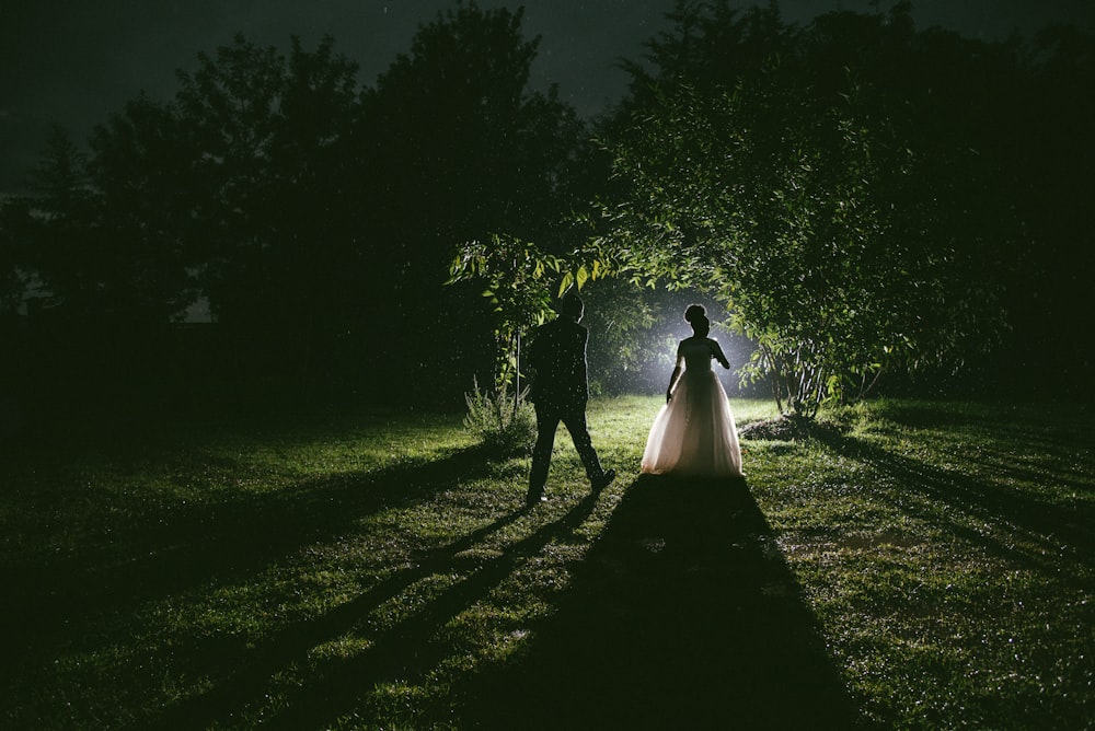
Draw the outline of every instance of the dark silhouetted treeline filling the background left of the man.
[[[494,359],[485,301],[443,286],[453,244],[573,246],[561,222],[590,195],[583,123],[529,89],[535,49],[521,12],[460,5],[361,88],[334,39],[237,36],[89,152],[57,130],[36,194],[3,208],[9,328],[31,298],[9,368],[43,398],[384,403],[428,383],[411,395],[459,403]],[[198,298],[214,326],[166,326]]]

